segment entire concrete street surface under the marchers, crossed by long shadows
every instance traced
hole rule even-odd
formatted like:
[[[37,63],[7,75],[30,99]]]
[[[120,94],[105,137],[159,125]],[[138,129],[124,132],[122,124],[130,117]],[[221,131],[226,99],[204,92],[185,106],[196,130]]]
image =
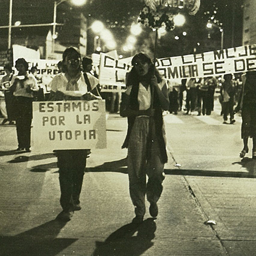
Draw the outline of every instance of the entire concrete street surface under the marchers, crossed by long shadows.
[[[0,125],[1,256],[255,256],[256,161],[251,150],[239,158],[238,114],[235,124],[223,124],[217,103],[211,116],[164,117],[169,161],[159,216],[147,211],[140,226],[131,224],[121,150],[127,121],[107,117],[108,147],[92,151],[82,210],[68,223],[55,220],[61,207],[54,155],[33,148],[17,154],[15,126]]]

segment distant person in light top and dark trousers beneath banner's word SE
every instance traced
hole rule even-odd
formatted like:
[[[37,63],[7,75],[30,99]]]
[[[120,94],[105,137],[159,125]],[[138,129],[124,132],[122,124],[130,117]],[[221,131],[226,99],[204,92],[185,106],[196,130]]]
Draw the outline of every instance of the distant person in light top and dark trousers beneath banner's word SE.
[[[205,79],[201,79],[197,83],[197,105],[198,105],[198,116],[206,114],[207,95],[208,95],[208,84]]]

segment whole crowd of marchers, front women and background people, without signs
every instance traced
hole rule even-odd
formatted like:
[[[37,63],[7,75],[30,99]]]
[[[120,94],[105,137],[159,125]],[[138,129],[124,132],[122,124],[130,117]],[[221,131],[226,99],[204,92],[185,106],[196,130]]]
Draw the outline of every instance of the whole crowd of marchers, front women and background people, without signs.
[[[224,123],[228,123],[228,117],[229,123],[234,123],[234,113],[242,111],[241,137],[244,147],[240,157],[248,153],[248,139],[252,138],[252,157],[256,159],[256,71],[242,76],[225,74],[221,78],[166,81],[152,59],[142,52],[132,58],[132,67],[126,75],[126,90],[118,110],[128,120],[122,147],[127,148],[129,191],[135,211],[132,222],[139,224],[146,211],[145,197],[150,202],[151,216],[158,216],[157,202],[162,194],[164,164],[167,162],[164,111],[178,114],[184,108],[186,114],[197,111],[198,115],[210,115],[214,110],[215,92],[219,90]],[[77,49],[69,47],[63,52],[58,68],[59,73],[50,83],[48,100],[102,99],[98,91],[99,80],[92,73],[90,58],[81,58]],[[32,101],[39,97],[36,68],[29,72],[28,62],[19,58],[15,61],[15,69],[17,75],[12,73],[10,66],[6,66],[6,76],[0,83],[3,94],[0,104],[4,116],[2,124],[7,121],[11,124],[15,120],[16,151],[30,152]],[[9,108],[3,98],[7,97],[12,99],[6,100],[6,103],[13,104],[10,108],[13,113],[5,111]],[[81,209],[79,197],[90,149],[55,150],[54,154],[59,168],[60,205],[63,209],[57,219],[69,221],[74,211]]]

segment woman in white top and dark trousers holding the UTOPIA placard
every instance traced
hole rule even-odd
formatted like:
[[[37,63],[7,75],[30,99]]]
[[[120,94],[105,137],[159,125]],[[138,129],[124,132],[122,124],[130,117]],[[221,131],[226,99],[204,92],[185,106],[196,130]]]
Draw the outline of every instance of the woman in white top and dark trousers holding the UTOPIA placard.
[[[50,101],[55,100],[94,100],[101,99],[97,94],[98,79],[81,72],[81,56],[74,47],[67,48],[62,55],[64,72],[51,81]],[[62,211],[57,219],[69,221],[75,210],[80,210],[80,193],[88,150],[56,150],[59,168],[60,205]]]

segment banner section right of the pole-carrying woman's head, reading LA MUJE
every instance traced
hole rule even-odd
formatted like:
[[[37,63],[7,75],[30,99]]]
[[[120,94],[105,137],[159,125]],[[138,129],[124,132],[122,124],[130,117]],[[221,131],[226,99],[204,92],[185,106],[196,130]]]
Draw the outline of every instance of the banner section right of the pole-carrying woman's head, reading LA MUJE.
[[[161,58],[156,67],[166,79],[246,72],[256,69],[256,45]]]

